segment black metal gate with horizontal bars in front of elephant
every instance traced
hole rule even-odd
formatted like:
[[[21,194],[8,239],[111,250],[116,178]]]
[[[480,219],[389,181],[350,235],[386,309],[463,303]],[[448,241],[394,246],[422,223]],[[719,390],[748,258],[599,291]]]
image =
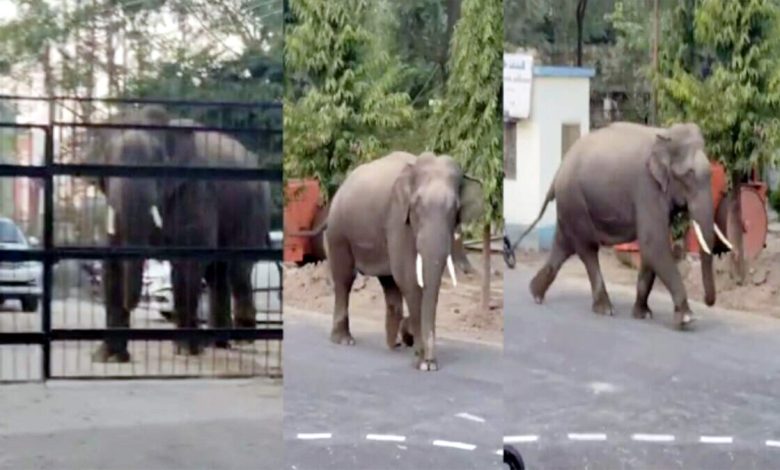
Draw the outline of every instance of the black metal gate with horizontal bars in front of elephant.
[[[43,123],[19,123],[22,119],[0,122],[0,180],[11,186],[10,191],[0,186],[0,197],[5,195],[6,208],[13,206],[13,214],[8,218],[20,226],[22,232],[36,237],[40,233],[42,239],[40,246],[30,249],[2,248],[0,243],[0,267],[13,269],[14,266],[37,266],[37,263],[42,267],[39,312],[17,312],[3,307],[2,301],[9,297],[4,294],[0,279],[0,382],[51,378],[281,376],[281,246],[107,246],[95,241],[99,236],[92,236],[101,232],[101,229],[95,229],[101,225],[95,223],[100,218],[96,214],[101,213],[95,202],[100,200],[100,193],[94,186],[90,190],[85,182],[99,178],[214,180],[217,181],[215,185],[268,181],[275,204],[271,228],[275,225],[276,232],[281,234],[281,104],[0,96],[0,104],[4,103],[26,103],[35,109],[46,107],[49,119]],[[93,118],[99,111],[113,116],[120,108],[138,109],[150,105],[162,106],[171,116],[191,118],[196,124],[190,127],[181,123],[177,126],[149,125]],[[238,142],[240,145],[232,148],[248,150],[247,158],[251,156],[258,161],[239,166],[161,166],[96,163],[80,157],[83,152],[79,147],[88,140],[84,136],[90,132],[170,129],[222,136],[220,138],[231,142],[230,145]],[[28,137],[21,138],[20,135]],[[36,152],[36,149],[40,151]],[[27,158],[20,156],[25,153]],[[42,161],[33,161],[35,155],[41,154]],[[26,180],[27,184],[20,185],[20,180]],[[67,189],[68,182],[70,190]],[[14,199],[10,205],[9,194]],[[18,210],[23,205],[20,201],[31,205],[36,194],[41,196],[42,207],[38,204],[37,208]],[[86,224],[71,220],[83,221],[90,217],[92,221]],[[253,224],[254,221],[246,220],[246,223]],[[78,227],[81,227],[80,231]],[[71,232],[76,235],[69,235]],[[265,284],[257,286],[253,277],[253,300],[257,303],[259,294],[265,296],[266,304],[257,309],[254,328],[180,328],[166,322],[162,304],[152,305],[156,297],[149,297],[147,292],[142,300],[144,307],[136,307],[133,311],[130,328],[109,328],[105,324],[105,307],[87,297],[88,289],[82,289],[85,284],[81,277],[83,273],[77,271],[75,277],[62,274],[72,272],[72,263],[107,259],[162,260],[160,265],[174,259],[197,260],[204,265],[215,260],[252,260],[256,262],[253,276],[265,269],[267,278],[258,281]],[[145,263],[146,267],[150,265],[150,261]],[[60,269],[56,269],[58,267]],[[55,285],[57,275],[59,284]],[[144,279],[147,279],[146,275],[145,268]],[[164,278],[165,275],[160,276],[160,283],[166,283]],[[272,282],[272,278],[277,281]],[[204,290],[205,295],[208,290]],[[206,303],[205,300],[202,302]],[[130,362],[98,363],[88,354],[99,342],[112,339],[126,340],[130,344]],[[172,342],[193,339],[218,341],[229,346],[206,348],[200,355],[174,353]]]

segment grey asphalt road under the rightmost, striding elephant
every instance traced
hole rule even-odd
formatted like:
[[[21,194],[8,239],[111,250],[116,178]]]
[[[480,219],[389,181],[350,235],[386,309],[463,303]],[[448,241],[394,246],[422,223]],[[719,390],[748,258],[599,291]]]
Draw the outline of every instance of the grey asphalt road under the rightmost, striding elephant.
[[[602,317],[587,281],[562,278],[536,305],[533,274],[504,281],[504,434],[527,468],[780,468],[780,321],[692,303],[679,332],[665,291],[636,320],[613,285]]]

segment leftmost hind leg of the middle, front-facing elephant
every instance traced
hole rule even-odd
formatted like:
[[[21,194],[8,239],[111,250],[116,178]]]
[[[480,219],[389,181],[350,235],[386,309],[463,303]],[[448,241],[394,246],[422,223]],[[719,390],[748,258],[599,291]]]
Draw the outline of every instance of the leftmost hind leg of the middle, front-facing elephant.
[[[355,344],[355,338],[349,330],[349,292],[355,282],[355,259],[344,243],[329,246],[328,252],[333,289],[336,294],[330,340],[336,344],[351,346]]]

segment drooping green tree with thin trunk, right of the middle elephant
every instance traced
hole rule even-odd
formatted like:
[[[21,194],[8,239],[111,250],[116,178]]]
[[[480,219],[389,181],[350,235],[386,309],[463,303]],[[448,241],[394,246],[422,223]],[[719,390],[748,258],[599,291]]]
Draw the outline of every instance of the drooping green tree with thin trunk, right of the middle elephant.
[[[490,302],[491,224],[503,215],[502,11],[501,0],[463,1],[433,141],[434,151],[452,155],[483,185],[483,311]]]

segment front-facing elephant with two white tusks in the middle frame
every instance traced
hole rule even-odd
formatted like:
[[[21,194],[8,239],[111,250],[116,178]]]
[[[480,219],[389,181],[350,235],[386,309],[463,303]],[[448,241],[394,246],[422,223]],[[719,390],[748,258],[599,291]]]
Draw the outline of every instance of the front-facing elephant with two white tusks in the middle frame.
[[[326,244],[336,294],[331,340],[354,344],[348,303],[356,272],[377,276],[385,294],[388,347],[415,346],[417,368],[438,369],[436,304],[453,234],[482,212],[482,186],[448,156],[394,152],[359,166],[336,192]],[[423,286],[416,258],[423,260]],[[409,318],[402,322],[403,302]]]

